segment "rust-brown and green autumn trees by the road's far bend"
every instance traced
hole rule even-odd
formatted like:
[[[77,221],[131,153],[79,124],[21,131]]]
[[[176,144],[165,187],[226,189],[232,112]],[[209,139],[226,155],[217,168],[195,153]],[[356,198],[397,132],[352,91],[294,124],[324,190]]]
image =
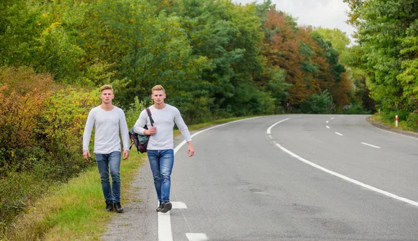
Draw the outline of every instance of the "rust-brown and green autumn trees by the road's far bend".
[[[291,84],[288,101],[293,106],[323,90],[335,97],[336,106],[348,104],[353,85],[330,41],[311,28],[297,28],[291,17],[276,10],[270,10],[264,28],[262,53],[268,65],[286,70],[286,83]]]

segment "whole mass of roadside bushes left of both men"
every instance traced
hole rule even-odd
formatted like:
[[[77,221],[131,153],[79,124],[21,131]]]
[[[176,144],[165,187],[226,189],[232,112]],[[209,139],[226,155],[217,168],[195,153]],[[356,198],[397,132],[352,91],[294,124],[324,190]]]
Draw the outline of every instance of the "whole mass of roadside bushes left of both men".
[[[95,165],[82,158],[82,134],[98,94],[0,67],[0,233],[51,185]]]

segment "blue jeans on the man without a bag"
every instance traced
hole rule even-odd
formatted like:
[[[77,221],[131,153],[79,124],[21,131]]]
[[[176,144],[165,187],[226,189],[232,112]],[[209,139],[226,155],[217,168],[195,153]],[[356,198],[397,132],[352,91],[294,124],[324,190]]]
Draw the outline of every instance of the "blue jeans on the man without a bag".
[[[121,151],[114,151],[109,154],[95,154],[95,158],[102,183],[104,201],[106,203],[121,201]],[[109,167],[111,185],[109,181]]]

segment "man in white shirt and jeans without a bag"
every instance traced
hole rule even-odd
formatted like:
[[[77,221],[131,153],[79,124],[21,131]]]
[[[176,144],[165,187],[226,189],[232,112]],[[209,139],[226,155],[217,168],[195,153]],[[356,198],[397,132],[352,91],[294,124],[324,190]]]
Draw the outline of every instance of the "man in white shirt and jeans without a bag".
[[[114,208],[117,213],[123,213],[121,206],[121,139],[123,142],[123,159],[129,156],[129,133],[127,129],[125,113],[121,108],[112,105],[111,101],[115,95],[111,85],[100,87],[100,99],[102,104],[96,106],[88,113],[86,127],[83,135],[83,157],[88,161],[90,151],[91,131],[95,128],[94,135],[94,154],[98,165],[106,211]],[[111,181],[109,179],[109,167]]]

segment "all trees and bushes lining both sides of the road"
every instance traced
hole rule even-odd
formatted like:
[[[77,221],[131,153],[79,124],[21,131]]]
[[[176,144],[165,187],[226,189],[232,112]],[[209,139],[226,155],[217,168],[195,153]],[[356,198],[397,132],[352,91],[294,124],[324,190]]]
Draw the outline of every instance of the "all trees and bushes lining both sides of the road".
[[[376,106],[411,119],[410,1],[344,1],[358,44],[338,29],[298,26],[270,0],[1,1],[0,230],[92,165],[82,160],[82,131],[103,84],[114,86],[129,125],[156,84],[187,124]]]

